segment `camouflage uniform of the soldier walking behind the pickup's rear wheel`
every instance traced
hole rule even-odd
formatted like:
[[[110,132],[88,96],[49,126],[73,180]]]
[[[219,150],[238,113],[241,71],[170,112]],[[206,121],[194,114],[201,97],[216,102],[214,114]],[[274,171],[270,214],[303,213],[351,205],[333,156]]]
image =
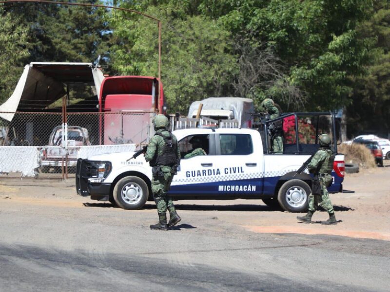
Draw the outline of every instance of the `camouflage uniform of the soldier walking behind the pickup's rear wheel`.
[[[314,212],[318,203],[329,214],[334,213],[331,199],[327,187],[332,183],[331,171],[333,169],[334,155],[333,151],[329,148],[320,148],[315,153],[312,161],[308,165],[308,169],[311,173],[314,173],[314,177],[318,177],[320,183],[321,194],[313,194],[309,196],[309,210]]]

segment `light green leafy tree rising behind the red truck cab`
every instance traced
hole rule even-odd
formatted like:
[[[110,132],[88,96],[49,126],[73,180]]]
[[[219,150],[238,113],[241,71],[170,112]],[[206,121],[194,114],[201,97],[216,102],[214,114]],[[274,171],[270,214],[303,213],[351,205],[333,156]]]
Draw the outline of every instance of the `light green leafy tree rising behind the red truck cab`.
[[[233,40],[218,21],[187,16],[185,5],[176,4],[150,5],[145,12],[162,20],[164,93],[170,111],[184,113],[194,100],[227,92],[236,63]],[[156,76],[156,23],[114,12],[110,25],[117,42],[110,52],[113,69],[119,74]]]

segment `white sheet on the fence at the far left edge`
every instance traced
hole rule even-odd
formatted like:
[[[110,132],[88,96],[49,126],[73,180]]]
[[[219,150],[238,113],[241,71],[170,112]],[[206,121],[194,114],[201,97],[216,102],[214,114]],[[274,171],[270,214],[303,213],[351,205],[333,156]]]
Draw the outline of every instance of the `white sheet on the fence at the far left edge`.
[[[24,177],[34,177],[39,167],[39,151],[34,146],[1,146],[0,172],[21,172]]]

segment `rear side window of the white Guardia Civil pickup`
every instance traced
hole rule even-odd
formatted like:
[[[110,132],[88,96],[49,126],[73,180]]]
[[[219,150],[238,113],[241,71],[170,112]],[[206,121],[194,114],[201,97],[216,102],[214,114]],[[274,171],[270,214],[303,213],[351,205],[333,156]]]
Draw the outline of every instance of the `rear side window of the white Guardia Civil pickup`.
[[[252,137],[248,134],[220,134],[221,155],[249,155],[253,153]]]

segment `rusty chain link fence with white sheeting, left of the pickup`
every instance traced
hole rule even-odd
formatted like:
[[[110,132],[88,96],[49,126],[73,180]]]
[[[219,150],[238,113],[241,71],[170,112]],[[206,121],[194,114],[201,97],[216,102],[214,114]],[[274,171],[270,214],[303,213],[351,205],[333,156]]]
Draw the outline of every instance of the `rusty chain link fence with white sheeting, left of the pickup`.
[[[0,118],[3,178],[70,178],[78,158],[135,151],[148,144],[154,133],[151,121],[155,112],[13,114],[12,121]]]

